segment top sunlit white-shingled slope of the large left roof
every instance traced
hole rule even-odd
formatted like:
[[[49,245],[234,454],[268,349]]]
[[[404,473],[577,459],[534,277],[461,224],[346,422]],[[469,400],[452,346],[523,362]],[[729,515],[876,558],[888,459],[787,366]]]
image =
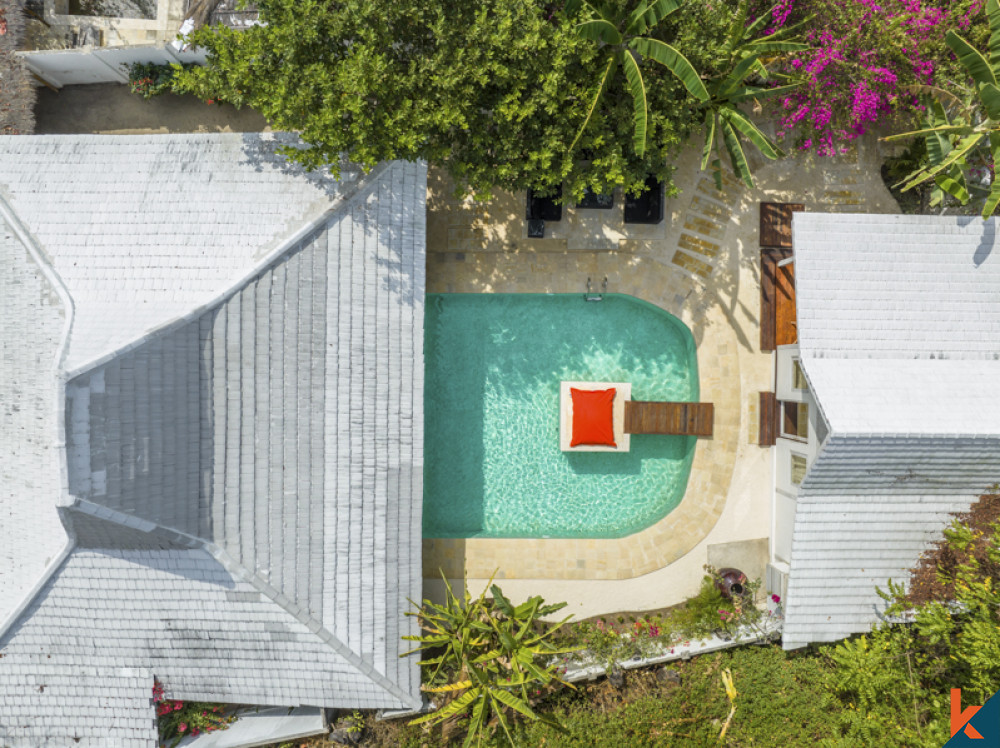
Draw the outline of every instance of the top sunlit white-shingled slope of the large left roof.
[[[232,286],[340,182],[274,152],[287,137],[47,135],[0,139],[0,184],[73,297],[67,371]]]

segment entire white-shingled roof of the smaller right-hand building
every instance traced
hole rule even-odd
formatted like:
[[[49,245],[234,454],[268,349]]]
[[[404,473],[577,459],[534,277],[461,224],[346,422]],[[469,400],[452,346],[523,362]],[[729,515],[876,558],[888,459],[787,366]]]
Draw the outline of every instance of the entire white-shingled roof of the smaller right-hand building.
[[[796,214],[800,354],[830,434],[800,488],[787,648],[867,630],[1000,480],[995,219]]]

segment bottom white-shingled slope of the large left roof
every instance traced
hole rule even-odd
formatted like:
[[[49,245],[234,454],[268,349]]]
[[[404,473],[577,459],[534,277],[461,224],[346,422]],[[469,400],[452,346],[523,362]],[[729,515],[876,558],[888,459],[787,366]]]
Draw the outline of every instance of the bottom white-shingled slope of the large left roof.
[[[25,748],[152,748],[154,677],[166,698],[190,701],[392,705],[354,663],[202,550],[73,551],[3,655],[0,739]]]

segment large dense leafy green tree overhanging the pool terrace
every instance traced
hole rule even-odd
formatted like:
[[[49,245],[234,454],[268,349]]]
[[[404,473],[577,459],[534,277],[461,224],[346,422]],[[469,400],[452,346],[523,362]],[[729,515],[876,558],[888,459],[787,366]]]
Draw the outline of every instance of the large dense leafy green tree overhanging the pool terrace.
[[[298,131],[307,147],[289,156],[310,167],[335,169],[341,154],[369,167],[421,158],[478,193],[560,184],[575,196],[586,188],[637,192],[649,175],[669,190],[671,154],[704,122],[700,102],[666,66],[636,55],[648,106],[637,152],[625,71],[603,80],[606,54],[560,2],[258,5],[261,25],[192,35],[209,64],[180,73],[176,88],[249,105],[275,128]],[[650,38],[682,50],[709,76],[734,11],[688,3]],[[599,85],[600,107],[588,121]]]

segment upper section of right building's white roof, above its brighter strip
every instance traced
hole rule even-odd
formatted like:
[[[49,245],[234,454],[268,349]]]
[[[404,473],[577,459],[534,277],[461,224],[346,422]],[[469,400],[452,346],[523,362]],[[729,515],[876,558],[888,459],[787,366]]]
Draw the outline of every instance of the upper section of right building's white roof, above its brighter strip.
[[[802,351],[823,358],[996,360],[996,220],[796,213]]]

